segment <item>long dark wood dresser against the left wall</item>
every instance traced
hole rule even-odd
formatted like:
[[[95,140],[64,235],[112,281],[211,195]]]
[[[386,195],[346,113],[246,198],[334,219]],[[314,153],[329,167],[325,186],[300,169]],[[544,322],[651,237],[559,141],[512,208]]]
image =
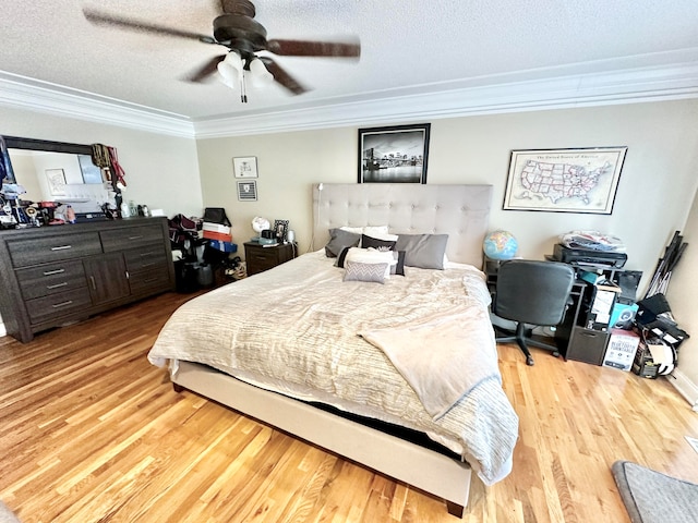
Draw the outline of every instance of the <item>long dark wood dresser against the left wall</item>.
[[[0,231],[0,314],[36,332],[174,289],[167,218]]]

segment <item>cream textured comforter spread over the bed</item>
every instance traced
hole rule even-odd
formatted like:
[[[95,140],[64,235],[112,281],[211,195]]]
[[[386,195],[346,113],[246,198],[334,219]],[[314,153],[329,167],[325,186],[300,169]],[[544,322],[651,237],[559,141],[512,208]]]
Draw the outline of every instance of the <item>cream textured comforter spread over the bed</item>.
[[[420,430],[462,455],[485,484],[495,483],[510,470],[518,434],[498,370],[433,419],[386,354],[359,336],[471,311],[482,318],[476,349],[496,357],[483,276],[458,264],[405,271],[385,284],[344,282],[344,269],[322,252],[303,255],[182,305],[148,358],[170,360],[173,372],[179,360],[204,363],[290,397]],[[433,340],[425,354],[440,351],[438,331]]]

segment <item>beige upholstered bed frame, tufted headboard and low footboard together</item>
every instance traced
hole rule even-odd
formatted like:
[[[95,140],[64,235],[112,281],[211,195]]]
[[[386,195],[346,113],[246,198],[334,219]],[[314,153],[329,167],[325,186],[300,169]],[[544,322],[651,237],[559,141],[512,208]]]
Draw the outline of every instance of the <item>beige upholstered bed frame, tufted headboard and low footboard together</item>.
[[[327,243],[330,228],[387,224],[395,233],[447,233],[448,259],[480,267],[491,200],[491,185],[318,184],[313,187],[314,245]],[[462,518],[472,479],[467,463],[207,366],[179,365],[176,390],[189,389],[441,497],[450,514]]]

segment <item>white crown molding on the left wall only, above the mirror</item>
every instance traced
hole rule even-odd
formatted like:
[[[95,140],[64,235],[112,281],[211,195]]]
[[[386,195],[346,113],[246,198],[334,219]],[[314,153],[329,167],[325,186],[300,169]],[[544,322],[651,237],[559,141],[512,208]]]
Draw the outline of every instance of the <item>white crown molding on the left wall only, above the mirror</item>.
[[[194,137],[186,117],[0,71],[0,106],[88,122]]]

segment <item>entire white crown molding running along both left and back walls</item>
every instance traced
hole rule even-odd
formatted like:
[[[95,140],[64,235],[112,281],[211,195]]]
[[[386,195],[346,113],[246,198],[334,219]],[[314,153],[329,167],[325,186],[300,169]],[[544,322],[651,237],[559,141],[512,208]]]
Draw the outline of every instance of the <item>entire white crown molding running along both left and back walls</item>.
[[[476,78],[458,88],[302,109],[191,120],[143,106],[0,72],[0,106],[189,138],[365,126],[477,114],[663,101],[698,97],[695,61],[623,71],[507,81]],[[474,85],[478,84],[478,85]],[[435,89],[435,86],[431,86]],[[442,86],[443,88],[443,86]],[[374,94],[375,95],[375,94]]]

